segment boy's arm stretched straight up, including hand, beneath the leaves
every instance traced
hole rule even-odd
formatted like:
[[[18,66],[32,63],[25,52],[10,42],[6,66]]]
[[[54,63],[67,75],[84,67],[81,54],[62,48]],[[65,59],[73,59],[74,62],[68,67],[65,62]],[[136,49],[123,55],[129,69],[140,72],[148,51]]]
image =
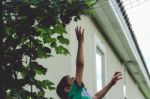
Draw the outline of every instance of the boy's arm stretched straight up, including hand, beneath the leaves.
[[[84,69],[84,56],[83,56],[83,42],[84,42],[84,29],[81,27],[75,28],[78,40],[78,52],[76,58],[76,82],[79,86],[82,84],[83,69]]]

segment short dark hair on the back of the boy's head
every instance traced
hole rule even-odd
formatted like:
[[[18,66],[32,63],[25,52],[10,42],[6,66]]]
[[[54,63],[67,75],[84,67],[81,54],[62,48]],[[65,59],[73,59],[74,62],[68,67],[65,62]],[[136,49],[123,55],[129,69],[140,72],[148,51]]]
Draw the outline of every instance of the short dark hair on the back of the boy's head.
[[[68,86],[68,75],[64,76],[57,85],[56,92],[61,99],[68,99],[68,93],[64,91],[64,88]]]

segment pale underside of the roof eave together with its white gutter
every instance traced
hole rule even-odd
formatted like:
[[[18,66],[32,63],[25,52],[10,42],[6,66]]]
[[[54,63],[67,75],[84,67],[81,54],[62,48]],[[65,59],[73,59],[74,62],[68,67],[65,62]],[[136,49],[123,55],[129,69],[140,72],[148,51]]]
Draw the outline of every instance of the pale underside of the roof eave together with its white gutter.
[[[100,0],[95,11],[99,25],[126,63],[140,89],[150,99],[150,78],[118,4],[115,0]]]

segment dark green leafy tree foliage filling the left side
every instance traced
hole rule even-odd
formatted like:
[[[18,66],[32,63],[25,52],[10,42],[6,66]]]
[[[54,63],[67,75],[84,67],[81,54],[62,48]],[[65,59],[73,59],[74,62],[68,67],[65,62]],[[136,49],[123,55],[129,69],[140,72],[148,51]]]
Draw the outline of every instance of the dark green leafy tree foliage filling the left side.
[[[54,83],[36,79],[47,72],[37,59],[51,57],[53,49],[68,55],[66,25],[88,14],[92,4],[93,0],[0,1],[1,98],[48,99],[44,90],[53,90]]]

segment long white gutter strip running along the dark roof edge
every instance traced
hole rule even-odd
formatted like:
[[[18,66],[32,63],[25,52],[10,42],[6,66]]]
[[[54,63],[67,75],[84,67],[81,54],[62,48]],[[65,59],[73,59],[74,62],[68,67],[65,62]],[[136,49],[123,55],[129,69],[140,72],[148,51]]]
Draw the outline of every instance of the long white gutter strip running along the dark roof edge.
[[[135,43],[134,43],[133,38],[131,36],[131,33],[130,33],[129,29],[128,29],[128,26],[127,26],[124,18],[122,17],[122,13],[120,13],[120,9],[118,7],[118,4],[116,4],[116,2],[114,2],[114,0],[111,0],[110,4],[111,4],[113,10],[115,11],[115,13],[118,14],[118,16],[119,16],[120,25],[121,25],[121,28],[123,30],[122,33],[125,35],[128,43],[129,43],[129,46],[130,46],[130,48],[132,50],[132,53],[134,54],[134,57],[135,57],[135,60],[136,60],[136,62],[138,64],[138,66],[142,70],[142,73],[143,73],[144,77],[146,78],[147,82],[150,82],[150,79],[149,79],[149,77],[147,75],[147,72],[145,71],[144,65],[143,65],[142,60],[141,60],[141,58],[139,56],[139,52],[137,51],[137,48],[135,46]],[[150,83],[149,83],[149,87],[150,87]]]

